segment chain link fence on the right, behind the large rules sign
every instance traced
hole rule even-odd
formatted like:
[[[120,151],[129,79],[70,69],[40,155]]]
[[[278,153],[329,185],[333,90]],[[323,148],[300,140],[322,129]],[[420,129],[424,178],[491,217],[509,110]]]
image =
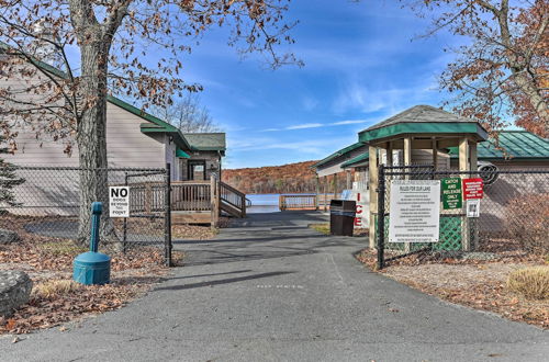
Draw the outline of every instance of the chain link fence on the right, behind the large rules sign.
[[[445,184],[455,180],[482,179],[479,204],[458,197],[448,204]],[[391,242],[391,188],[395,180],[439,180],[439,235],[436,242]],[[468,210],[469,207],[470,210]],[[478,210],[477,210],[478,208]],[[380,217],[379,215],[383,215]],[[442,259],[470,251],[519,249],[547,252],[549,248],[549,170],[437,170],[433,166],[386,167],[379,169],[378,213],[376,214],[378,267],[411,254]],[[383,230],[383,233],[380,233]]]

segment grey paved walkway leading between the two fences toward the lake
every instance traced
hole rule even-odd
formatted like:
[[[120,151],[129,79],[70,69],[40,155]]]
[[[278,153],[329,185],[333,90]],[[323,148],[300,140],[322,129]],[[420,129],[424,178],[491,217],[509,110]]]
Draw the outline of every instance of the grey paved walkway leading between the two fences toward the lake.
[[[130,306],[12,344],[2,361],[544,361],[549,333],[369,272],[320,214],[250,215],[182,241],[187,265]]]

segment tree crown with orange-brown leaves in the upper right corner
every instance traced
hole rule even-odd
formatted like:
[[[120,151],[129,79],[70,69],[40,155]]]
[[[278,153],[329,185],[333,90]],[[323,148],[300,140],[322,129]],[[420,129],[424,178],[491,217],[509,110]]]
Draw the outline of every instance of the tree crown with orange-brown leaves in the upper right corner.
[[[440,86],[457,97],[461,114],[497,129],[516,124],[549,136],[549,2],[547,0],[425,0],[415,10],[436,13],[428,35],[449,30],[470,43]]]

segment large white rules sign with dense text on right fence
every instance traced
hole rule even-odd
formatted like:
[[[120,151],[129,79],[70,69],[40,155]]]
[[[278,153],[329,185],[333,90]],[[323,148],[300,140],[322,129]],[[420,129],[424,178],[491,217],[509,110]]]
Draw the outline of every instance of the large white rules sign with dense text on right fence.
[[[391,181],[389,242],[438,242],[440,181]]]

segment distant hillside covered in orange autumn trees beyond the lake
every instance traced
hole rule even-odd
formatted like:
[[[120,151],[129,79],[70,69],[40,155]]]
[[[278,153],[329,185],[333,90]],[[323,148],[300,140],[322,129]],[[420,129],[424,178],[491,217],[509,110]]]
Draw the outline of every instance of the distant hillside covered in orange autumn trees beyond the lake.
[[[223,170],[223,181],[244,193],[302,193],[315,191],[316,161]]]

